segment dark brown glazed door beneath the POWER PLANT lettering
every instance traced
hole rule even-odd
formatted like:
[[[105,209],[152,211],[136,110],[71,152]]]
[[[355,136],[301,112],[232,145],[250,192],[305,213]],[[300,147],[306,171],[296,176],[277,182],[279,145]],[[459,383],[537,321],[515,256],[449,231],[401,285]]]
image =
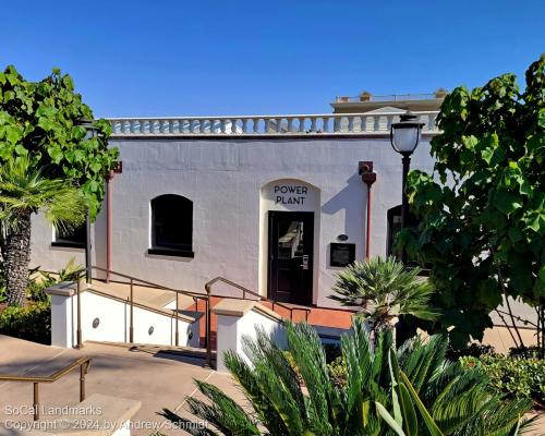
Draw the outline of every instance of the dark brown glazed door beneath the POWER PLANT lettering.
[[[268,295],[284,303],[311,304],[314,213],[269,211]]]

